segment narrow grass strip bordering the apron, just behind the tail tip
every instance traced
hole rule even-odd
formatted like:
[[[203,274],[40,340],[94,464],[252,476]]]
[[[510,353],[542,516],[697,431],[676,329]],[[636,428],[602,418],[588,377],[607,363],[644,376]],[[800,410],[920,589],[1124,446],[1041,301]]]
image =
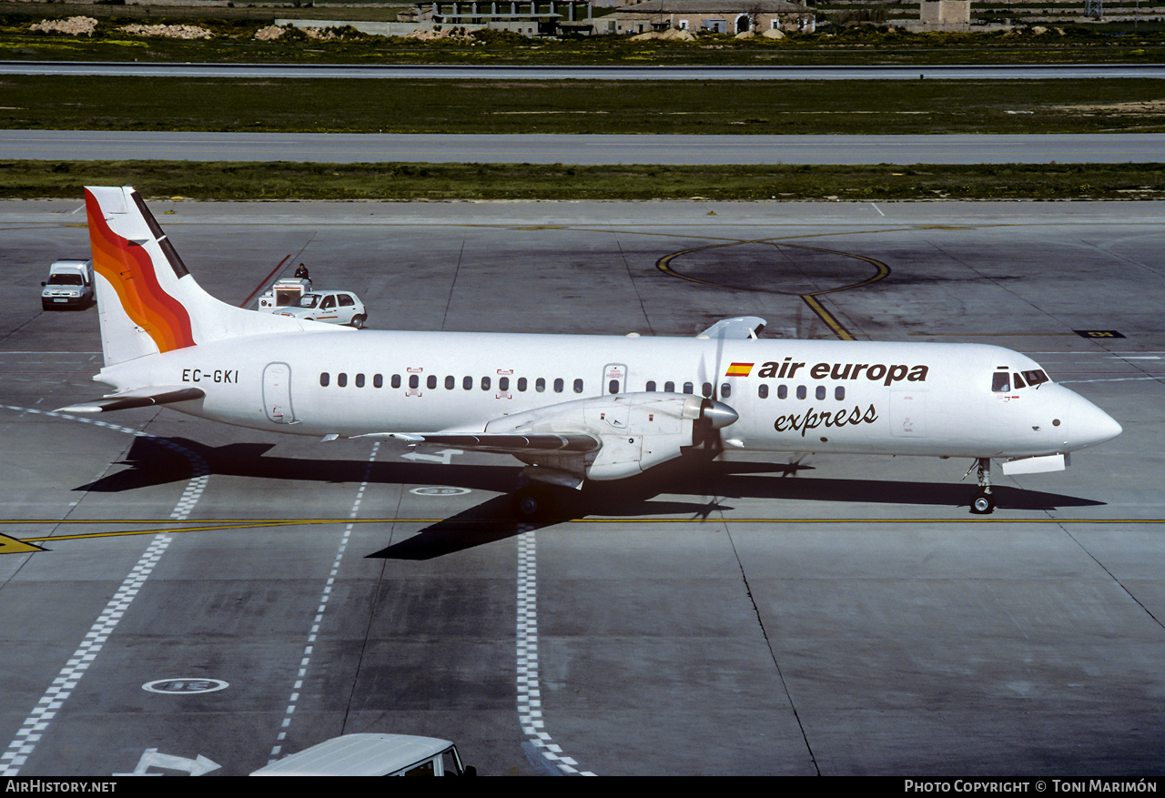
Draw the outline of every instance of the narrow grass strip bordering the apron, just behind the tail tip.
[[[0,198],[77,198],[85,185],[205,200],[1156,199],[1165,163],[571,167],[463,163],[0,161]]]

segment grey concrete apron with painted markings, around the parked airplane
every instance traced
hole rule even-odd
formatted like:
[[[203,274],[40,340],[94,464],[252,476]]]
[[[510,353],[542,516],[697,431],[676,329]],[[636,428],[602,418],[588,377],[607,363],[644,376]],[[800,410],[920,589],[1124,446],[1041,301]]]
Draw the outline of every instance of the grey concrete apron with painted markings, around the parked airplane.
[[[101,393],[96,310],[37,299],[84,210],[0,203],[0,772],[243,775],[353,732],[482,775],[1165,771],[1159,204],[151,209],[234,304],[303,261],[379,329],[991,342],[1124,433],[996,473],[986,517],[967,461],[733,453],[520,528],[506,457],[51,412]]]

